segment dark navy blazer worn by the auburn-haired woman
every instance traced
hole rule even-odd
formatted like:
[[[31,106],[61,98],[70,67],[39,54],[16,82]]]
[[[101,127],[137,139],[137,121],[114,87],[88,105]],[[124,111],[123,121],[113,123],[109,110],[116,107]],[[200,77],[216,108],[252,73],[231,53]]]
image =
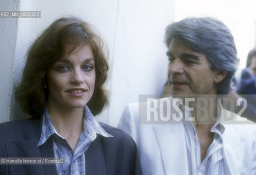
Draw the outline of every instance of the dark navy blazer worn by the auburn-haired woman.
[[[101,126],[113,137],[97,135],[85,153],[86,175],[142,174],[136,144],[125,132]],[[53,158],[52,139],[37,148],[42,120],[32,118],[0,124],[0,158]],[[1,165],[0,174],[57,174],[55,165]]]

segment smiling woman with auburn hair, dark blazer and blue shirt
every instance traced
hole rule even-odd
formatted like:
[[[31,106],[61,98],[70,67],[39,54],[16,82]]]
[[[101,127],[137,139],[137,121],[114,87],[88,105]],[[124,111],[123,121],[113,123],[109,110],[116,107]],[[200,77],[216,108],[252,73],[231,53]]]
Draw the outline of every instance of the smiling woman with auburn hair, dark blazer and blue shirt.
[[[0,125],[0,157],[65,164],[0,165],[0,174],[140,174],[136,145],[93,115],[108,103],[102,39],[75,17],[53,22],[31,45],[16,100],[33,118]]]

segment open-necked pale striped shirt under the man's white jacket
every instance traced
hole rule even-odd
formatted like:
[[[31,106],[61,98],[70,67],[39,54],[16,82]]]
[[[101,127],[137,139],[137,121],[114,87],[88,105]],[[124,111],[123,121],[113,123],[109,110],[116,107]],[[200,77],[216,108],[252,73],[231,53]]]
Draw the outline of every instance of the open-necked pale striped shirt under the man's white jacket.
[[[222,107],[218,104],[218,107]],[[185,106],[181,106],[181,110],[185,110]],[[190,113],[189,113],[190,114]],[[189,116],[190,117],[190,116]],[[222,134],[225,131],[224,125],[220,123],[222,119],[221,113],[218,116],[218,120],[213,125],[211,132],[214,133],[214,138],[212,144],[210,144],[207,155],[201,163],[201,148],[200,143],[197,137],[196,129],[192,121],[185,121],[185,138],[186,138],[186,147],[187,147],[187,162],[188,162],[188,171],[191,175],[193,174],[202,174],[202,175],[221,175],[224,174],[224,150],[222,142]]]

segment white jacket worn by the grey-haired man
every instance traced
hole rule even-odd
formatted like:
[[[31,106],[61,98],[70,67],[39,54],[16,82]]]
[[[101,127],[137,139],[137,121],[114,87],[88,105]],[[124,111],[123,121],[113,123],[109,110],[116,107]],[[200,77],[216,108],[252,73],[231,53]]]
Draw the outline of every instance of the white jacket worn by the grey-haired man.
[[[140,110],[144,110],[141,108],[145,107],[146,105],[140,106]],[[231,112],[223,109],[222,113]],[[237,118],[239,117],[237,116]],[[131,103],[124,110],[119,128],[129,133],[135,140],[143,174],[190,174],[186,159],[187,150],[185,137],[183,137],[185,132],[183,125],[140,124],[139,120],[139,103]],[[251,125],[226,124],[224,126],[222,139],[225,175],[255,175],[255,123],[251,123]]]

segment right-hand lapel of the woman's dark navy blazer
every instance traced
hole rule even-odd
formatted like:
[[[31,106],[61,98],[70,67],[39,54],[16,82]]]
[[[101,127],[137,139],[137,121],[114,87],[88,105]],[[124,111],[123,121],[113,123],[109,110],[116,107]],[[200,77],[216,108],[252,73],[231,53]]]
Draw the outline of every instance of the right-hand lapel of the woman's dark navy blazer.
[[[102,152],[101,140],[99,136],[92,142],[90,147],[85,153],[85,167],[86,174],[90,175],[104,175],[107,174],[105,171],[105,160]]]

